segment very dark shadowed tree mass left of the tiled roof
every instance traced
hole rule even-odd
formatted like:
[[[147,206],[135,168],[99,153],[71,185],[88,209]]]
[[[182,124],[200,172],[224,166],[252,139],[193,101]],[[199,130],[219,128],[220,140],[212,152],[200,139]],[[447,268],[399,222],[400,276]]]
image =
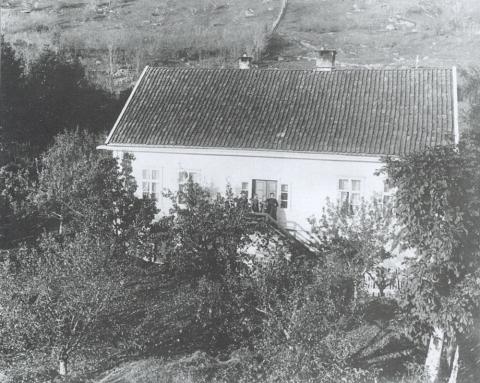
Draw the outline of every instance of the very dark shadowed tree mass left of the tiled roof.
[[[92,85],[78,60],[45,50],[28,72],[2,39],[0,135],[5,159],[37,156],[64,130],[109,129],[124,100]]]

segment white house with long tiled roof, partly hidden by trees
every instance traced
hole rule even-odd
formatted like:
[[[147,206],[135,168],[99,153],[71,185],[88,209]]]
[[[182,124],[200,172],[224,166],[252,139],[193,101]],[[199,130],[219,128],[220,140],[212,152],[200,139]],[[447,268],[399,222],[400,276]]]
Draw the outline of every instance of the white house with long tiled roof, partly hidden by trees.
[[[458,140],[452,69],[146,67],[104,145],[135,156],[138,193],[191,177],[214,191],[274,193],[278,222],[307,227],[327,197],[388,193],[382,156]],[[325,69],[325,68],[323,68]]]

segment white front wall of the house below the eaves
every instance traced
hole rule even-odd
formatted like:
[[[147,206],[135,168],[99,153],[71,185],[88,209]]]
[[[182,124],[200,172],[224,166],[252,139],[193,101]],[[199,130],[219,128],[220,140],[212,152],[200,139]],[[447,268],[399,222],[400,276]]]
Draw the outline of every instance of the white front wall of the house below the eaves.
[[[124,150],[127,151],[127,150]],[[214,192],[224,193],[230,184],[235,194],[240,194],[242,183],[248,182],[251,198],[252,180],[276,180],[280,199],[280,185],[288,185],[288,208],[278,209],[278,220],[284,225],[295,222],[303,228],[310,226],[307,219],[319,217],[327,197],[338,198],[340,178],[361,180],[361,195],[369,198],[383,192],[383,179],[374,173],[381,167],[379,159],[329,155],[324,158],[268,157],[236,153],[204,154],[167,153],[128,150],[133,153],[133,175],[138,184],[137,194],[142,194],[142,170],[159,170],[160,186],[177,191],[179,172],[200,173],[199,181]],[[121,151],[114,152],[121,156]],[[170,201],[159,198],[161,212],[168,212]]]

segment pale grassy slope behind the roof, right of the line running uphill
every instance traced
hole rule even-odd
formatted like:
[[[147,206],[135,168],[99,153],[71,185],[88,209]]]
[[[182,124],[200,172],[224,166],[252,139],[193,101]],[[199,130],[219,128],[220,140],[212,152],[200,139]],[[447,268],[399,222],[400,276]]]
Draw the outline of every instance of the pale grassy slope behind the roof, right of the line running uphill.
[[[468,67],[480,61],[478,0],[290,0],[282,54],[338,50],[340,65]]]

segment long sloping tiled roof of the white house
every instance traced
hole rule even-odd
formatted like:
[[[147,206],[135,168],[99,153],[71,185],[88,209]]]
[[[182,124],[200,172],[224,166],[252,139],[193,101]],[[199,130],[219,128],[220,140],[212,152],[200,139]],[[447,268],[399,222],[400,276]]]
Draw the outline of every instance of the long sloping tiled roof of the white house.
[[[107,144],[400,155],[453,142],[452,70],[147,67]]]

